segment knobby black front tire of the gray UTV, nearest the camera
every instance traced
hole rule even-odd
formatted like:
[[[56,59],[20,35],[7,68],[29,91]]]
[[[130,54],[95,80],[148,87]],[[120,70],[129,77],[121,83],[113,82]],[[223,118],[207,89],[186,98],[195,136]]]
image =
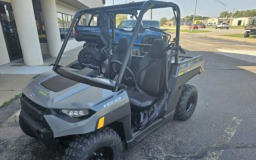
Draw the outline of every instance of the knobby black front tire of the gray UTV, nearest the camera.
[[[108,127],[75,137],[62,160],[120,160],[123,146],[119,135]]]

